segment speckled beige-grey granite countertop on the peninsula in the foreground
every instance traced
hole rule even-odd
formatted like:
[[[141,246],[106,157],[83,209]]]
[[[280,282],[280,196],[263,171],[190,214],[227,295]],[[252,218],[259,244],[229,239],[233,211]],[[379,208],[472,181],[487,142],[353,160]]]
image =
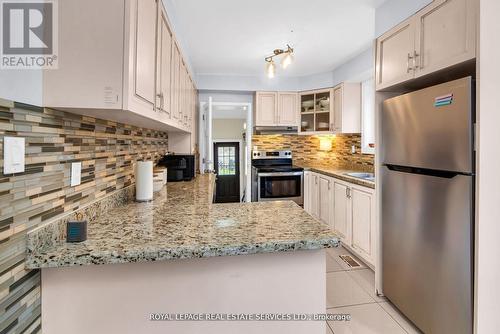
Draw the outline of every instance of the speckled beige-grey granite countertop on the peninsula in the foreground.
[[[109,210],[82,243],[33,247],[27,267],[48,268],[336,247],[337,235],[291,201],[213,204],[215,176],[168,183],[152,202]],[[38,236],[39,237],[39,236]]]

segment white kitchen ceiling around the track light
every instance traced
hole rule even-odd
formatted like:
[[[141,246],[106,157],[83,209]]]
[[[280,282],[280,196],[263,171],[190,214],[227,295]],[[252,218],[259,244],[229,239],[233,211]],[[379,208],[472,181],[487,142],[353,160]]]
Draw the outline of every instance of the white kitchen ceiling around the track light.
[[[288,43],[280,76],[327,72],[370,46],[385,0],[172,0],[196,74],[262,76],[264,57]]]

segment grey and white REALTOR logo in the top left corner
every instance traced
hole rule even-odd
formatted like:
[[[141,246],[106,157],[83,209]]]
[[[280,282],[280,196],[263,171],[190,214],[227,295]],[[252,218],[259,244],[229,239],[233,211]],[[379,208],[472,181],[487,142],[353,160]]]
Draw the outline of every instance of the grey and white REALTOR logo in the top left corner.
[[[0,0],[0,4],[0,67],[57,68],[57,3],[54,0]]]

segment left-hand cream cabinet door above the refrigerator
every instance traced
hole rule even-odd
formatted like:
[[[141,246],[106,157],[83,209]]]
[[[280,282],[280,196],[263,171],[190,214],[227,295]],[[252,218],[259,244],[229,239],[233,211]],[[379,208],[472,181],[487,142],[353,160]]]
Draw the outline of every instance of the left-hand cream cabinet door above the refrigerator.
[[[377,89],[414,77],[415,20],[409,19],[377,39]]]

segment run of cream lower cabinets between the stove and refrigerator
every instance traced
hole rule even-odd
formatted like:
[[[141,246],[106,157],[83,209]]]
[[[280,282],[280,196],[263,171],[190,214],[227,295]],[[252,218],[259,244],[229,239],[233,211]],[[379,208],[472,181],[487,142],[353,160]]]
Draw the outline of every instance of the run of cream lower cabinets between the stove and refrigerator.
[[[330,225],[345,246],[375,265],[374,189],[306,171],[304,210]]]

